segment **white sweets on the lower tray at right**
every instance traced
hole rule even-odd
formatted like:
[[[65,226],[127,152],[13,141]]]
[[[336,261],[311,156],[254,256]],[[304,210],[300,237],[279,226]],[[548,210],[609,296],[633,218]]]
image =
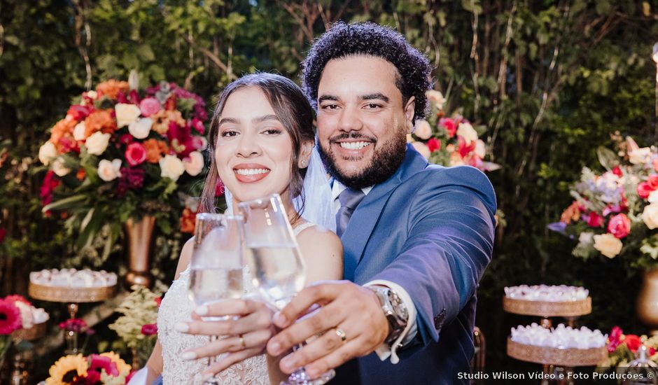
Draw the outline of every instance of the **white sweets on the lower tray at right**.
[[[547,346],[558,349],[590,349],[605,346],[608,335],[601,330],[582,327],[573,329],[563,323],[556,328],[542,328],[537,323],[512,328],[512,341],[519,344]]]

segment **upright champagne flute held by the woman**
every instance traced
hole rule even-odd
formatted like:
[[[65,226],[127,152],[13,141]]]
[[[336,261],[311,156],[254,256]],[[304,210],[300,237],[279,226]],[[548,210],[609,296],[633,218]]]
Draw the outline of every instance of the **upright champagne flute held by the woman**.
[[[197,214],[195,240],[190,261],[190,300],[196,307],[237,299],[244,294],[242,285],[241,216]],[[202,317],[204,321],[222,321],[228,316]],[[211,336],[211,341],[217,336]],[[208,365],[215,362],[208,358]],[[204,384],[219,384],[214,378]]]

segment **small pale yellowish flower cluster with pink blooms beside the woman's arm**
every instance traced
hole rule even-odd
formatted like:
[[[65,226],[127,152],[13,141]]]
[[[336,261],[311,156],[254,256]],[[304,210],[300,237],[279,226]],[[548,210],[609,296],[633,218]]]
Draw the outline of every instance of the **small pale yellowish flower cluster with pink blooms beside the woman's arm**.
[[[145,286],[134,285],[116,311],[123,314],[109,325],[126,346],[134,349],[140,362],[146,362],[158,336],[158,308],[162,298]]]

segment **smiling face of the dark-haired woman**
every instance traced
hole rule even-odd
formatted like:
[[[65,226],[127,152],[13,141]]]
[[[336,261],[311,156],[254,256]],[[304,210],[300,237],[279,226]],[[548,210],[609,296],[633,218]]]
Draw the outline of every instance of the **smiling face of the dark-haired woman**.
[[[218,125],[219,177],[238,202],[279,193],[286,202],[293,141],[258,87],[232,92]]]

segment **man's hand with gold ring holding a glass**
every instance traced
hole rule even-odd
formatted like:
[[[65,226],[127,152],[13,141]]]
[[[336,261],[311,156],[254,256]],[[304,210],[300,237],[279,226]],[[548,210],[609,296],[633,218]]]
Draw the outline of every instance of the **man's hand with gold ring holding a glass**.
[[[295,323],[313,304],[323,307]],[[323,333],[279,365],[285,373],[304,366],[311,378],[371,353],[388,335],[388,322],[377,295],[349,281],[323,281],[304,288],[274,316],[274,324],[283,330],[267,343],[272,356]]]

